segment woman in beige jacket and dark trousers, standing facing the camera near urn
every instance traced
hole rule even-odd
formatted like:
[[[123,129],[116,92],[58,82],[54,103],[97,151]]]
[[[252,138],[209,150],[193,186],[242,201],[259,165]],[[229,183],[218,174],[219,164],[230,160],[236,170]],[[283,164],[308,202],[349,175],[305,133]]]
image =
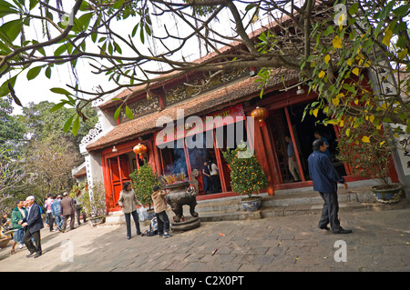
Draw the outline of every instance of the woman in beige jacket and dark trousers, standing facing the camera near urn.
[[[125,182],[122,186],[122,191],[119,193],[118,205],[122,207],[122,212],[125,215],[127,239],[129,240],[131,238],[131,215],[137,228],[137,235],[141,235],[136,205],[142,206],[142,204],[139,202],[137,195],[135,195],[130,182]]]

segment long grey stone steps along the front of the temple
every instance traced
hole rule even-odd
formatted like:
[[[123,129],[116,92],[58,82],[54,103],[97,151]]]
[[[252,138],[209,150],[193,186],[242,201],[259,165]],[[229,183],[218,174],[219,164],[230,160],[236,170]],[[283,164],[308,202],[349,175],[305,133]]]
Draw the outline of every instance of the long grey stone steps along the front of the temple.
[[[251,220],[270,216],[284,215],[320,215],[323,207],[323,199],[311,190],[302,191],[279,191],[275,195],[261,194],[261,210],[247,212],[241,206],[241,199],[244,196],[231,196],[216,200],[201,200],[195,208],[200,215],[201,222],[217,222],[229,220]],[[407,204],[407,199],[395,205],[385,205],[378,203],[369,186],[356,187],[349,190],[339,190],[338,192],[340,212],[354,211],[380,211],[395,208],[403,208]],[[167,214],[172,220],[174,213],[168,207]],[[183,206],[183,214],[190,216],[190,207]],[[124,214],[117,212],[108,215],[106,225],[125,224]],[[149,222],[142,223],[149,225]]]

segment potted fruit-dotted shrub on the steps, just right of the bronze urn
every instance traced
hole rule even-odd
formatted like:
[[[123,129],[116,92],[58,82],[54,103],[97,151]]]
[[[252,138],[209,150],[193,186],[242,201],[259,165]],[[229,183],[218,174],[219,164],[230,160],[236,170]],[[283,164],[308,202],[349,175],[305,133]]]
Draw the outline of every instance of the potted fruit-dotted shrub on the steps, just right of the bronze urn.
[[[222,153],[231,169],[231,188],[234,193],[248,195],[242,198],[241,205],[248,211],[261,208],[261,189],[268,186],[268,179],[253,152],[247,151],[243,142],[234,150],[227,149]]]

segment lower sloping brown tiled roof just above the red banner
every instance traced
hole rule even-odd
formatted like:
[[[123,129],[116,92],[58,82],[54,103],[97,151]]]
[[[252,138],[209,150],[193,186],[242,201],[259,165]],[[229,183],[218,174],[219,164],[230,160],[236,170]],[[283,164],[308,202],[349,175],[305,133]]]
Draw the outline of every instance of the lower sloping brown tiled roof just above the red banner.
[[[276,70],[277,74],[272,74],[267,87],[270,89],[280,89],[283,82],[292,85],[299,80],[299,73],[293,70]],[[107,148],[111,145],[128,142],[135,139],[138,135],[145,135],[158,131],[156,122],[161,116],[169,116],[173,120],[177,119],[177,109],[183,109],[185,117],[190,115],[204,115],[211,111],[222,109],[224,106],[235,105],[255,95],[259,95],[259,83],[254,82],[254,78],[247,76],[233,82],[223,85],[220,88],[210,92],[195,96],[175,105],[170,105],[160,112],[143,115],[137,119],[130,120],[120,124],[108,132],[107,135],[101,136],[96,142],[87,145],[88,151]]]

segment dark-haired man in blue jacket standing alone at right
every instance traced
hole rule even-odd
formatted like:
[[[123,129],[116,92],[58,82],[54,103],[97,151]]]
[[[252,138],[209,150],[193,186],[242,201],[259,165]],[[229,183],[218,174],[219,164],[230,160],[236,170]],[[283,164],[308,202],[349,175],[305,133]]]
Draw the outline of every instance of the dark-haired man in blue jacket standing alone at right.
[[[314,140],[313,153],[308,158],[313,189],[319,192],[324,201],[319,228],[330,230],[327,226],[330,223],[333,234],[350,234],[352,230],[343,229],[338,218],[337,183],[343,184],[344,189],[347,189],[347,184],[337,174],[329,157],[323,153],[326,148],[322,139]]]

